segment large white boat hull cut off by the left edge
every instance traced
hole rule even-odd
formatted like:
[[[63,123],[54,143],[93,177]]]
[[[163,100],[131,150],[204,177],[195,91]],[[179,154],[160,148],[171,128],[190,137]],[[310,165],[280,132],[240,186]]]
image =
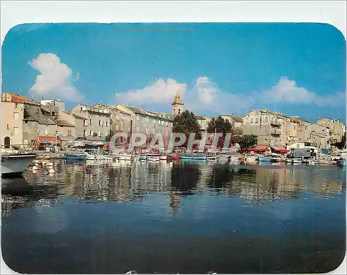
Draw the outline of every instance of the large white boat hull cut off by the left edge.
[[[1,153],[1,177],[22,175],[34,158],[35,153]]]

